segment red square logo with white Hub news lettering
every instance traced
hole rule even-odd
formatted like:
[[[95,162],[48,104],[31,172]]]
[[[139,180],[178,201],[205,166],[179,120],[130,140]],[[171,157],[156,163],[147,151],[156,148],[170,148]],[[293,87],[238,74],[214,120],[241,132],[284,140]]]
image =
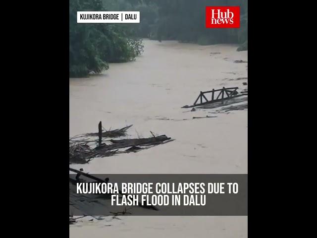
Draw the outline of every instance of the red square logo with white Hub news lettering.
[[[206,28],[240,28],[240,6],[206,6]]]

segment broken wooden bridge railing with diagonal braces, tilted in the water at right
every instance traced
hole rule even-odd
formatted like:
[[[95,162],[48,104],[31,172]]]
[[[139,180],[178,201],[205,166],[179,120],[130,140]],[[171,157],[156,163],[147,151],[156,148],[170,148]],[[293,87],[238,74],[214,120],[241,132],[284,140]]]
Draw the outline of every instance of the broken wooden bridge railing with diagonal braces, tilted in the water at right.
[[[191,106],[186,105],[182,108],[192,108],[192,107],[202,106],[202,105],[211,104],[211,103],[223,102],[228,99],[243,96],[242,94],[238,93],[237,89],[238,87],[232,87],[232,88],[223,87],[221,89],[216,89],[216,90],[212,89],[211,91],[206,91],[206,92],[201,91],[193,105]],[[211,100],[207,99],[206,94],[211,94]]]

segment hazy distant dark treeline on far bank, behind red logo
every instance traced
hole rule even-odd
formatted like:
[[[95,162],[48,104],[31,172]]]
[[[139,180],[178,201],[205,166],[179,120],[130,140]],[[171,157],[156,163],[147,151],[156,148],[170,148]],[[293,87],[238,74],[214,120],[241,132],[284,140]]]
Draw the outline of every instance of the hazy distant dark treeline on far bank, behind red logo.
[[[103,0],[112,10],[140,11],[140,24],[133,25],[139,37],[153,40],[211,45],[239,43],[247,49],[248,0]],[[240,6],[239,29],[205,27],[206,6]],[[242,49],[242,48],[240,48]]]

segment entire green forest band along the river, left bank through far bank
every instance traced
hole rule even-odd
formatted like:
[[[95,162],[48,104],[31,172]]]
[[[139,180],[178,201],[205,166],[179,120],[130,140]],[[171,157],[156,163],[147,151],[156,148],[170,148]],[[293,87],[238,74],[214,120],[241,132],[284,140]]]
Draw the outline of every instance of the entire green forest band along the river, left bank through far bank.
[[[239,5],[239,29],[205,27],[208,5]],[[77,24],[77,11],[140,11],[139,24]],[[69,74],[100,73],[142,54],[142,38],[248,49],[248,0],[69,0]]]

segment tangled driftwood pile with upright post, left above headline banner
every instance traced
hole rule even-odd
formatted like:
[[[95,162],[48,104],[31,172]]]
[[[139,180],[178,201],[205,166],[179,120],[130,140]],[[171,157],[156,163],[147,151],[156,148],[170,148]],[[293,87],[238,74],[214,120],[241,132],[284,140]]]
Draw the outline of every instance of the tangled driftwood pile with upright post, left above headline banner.
[[[116,153],[130,153],[171,141],[166,135],[137,139],[120,139],[132,125],[121,129],[106,130],[99,122],[99,132],[86,133],[69,138],[69,164],[86,164],[97,157],[112,156]],[[120,150],[127,148],[126,150]]]

